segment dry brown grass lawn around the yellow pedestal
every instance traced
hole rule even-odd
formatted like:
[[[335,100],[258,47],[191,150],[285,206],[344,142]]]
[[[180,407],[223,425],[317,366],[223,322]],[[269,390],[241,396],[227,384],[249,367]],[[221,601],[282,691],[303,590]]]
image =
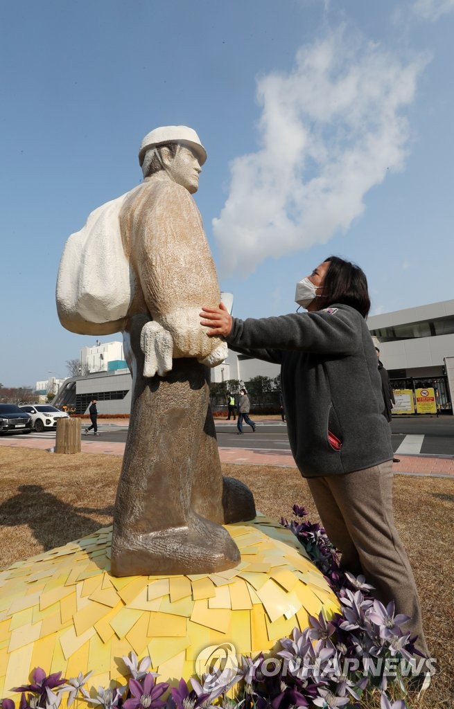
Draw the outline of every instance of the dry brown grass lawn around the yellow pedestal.
[[[111,523],[121,459],[0,449],[0,568],[64,545]],[[262,513],[279,519],[304,504],[318,515],[306,482],[293,468],[223,465],[245,481]],[[396,476],[396,523],[421,596],[426,637],[438,674],[414,709],[454,706],[454,480]]]

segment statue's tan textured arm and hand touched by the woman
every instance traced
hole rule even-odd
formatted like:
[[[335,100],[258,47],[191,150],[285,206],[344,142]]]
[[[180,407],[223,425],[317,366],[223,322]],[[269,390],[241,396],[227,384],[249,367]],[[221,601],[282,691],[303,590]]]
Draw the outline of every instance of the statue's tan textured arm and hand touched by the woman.
[[[204,303],[218,305],[219,286],[192,196],[172,183],[153,208],[143,206],[138,225],[135,269],[150,315],[172,336],[172,357],[218,364],[226,344],[206,335],[199,313]]]

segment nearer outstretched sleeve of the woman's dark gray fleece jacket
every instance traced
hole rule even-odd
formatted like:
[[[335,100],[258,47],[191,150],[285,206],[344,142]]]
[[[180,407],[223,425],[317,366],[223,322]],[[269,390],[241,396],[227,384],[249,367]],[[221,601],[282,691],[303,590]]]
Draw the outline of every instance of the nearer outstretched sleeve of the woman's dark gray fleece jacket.
[[[358,311],[348,306],[277,318],[233,319],[228,345],[242,352],[301,350],[318,354],[353,354],[362,336]],[[258,357],[258,354],[254,355]]]

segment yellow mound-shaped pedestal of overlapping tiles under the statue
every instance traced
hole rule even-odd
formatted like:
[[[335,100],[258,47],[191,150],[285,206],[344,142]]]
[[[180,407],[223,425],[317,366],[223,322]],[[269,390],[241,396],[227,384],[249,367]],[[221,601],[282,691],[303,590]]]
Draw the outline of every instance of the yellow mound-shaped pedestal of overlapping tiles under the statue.
[[[306,627],[308,614],[339,610],[292,532],[262,516],[227,528],[241,562],[218,574],[117,579],[111,527],[1,571],[0,697],[13,698],[36,666],[67,678],[94,670],[96,688],[124,685],[131,650],[175,684],[209,645],[254,656]]]

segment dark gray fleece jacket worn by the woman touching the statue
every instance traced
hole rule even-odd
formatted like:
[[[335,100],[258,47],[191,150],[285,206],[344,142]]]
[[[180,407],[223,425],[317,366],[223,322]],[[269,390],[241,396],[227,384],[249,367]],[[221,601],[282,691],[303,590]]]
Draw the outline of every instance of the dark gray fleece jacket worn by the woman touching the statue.
[[[281,364],[290,447],[304,477],[392,459],[377,354],[354,308],[334,303],[313,313],[234,318],[226,340],[236,352]],[[338,450],[328,432],[341,442]]]

